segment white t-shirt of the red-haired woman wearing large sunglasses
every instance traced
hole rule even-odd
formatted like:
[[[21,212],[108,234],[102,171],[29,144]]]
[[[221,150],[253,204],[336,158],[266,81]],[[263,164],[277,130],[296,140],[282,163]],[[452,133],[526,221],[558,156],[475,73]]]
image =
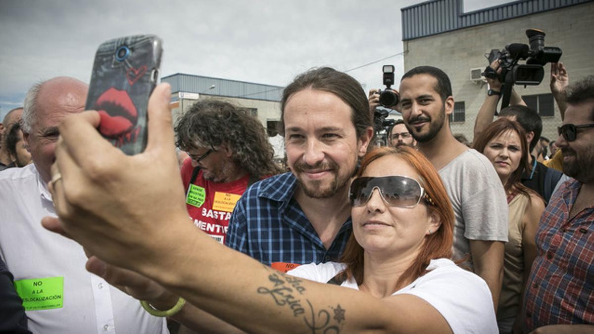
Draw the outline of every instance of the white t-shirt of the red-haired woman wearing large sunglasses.
[[[336,262],[311,263],[287,274],[326,283],[345,267],[344,263]],[[491,291],[482,278],[448,259],[431,260],[427,270],[428,273],[393,295],[410,294],[425,300],[441,313],[454,333],[499,333]],[[359,289],[354,278],[340,286]]]

